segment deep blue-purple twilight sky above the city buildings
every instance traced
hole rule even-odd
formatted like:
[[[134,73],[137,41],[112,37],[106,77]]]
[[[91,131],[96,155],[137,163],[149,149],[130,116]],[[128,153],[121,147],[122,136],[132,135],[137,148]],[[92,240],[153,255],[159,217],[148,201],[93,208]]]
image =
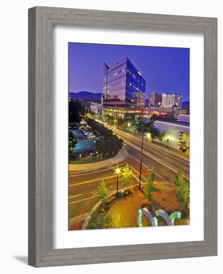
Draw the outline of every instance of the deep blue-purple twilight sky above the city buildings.
[[[109,67],[128,57],[151,92],[179,93],[189,101],[190,49],[69,43],[69,91],[103,90],[103,63]]]

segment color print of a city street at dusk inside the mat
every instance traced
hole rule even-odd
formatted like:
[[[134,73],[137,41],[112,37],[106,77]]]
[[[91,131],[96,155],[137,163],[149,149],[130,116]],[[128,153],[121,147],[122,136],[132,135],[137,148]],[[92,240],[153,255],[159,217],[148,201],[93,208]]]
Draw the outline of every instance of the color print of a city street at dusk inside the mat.
[[[68,44],[70,231],[190,224],[190,49]]]

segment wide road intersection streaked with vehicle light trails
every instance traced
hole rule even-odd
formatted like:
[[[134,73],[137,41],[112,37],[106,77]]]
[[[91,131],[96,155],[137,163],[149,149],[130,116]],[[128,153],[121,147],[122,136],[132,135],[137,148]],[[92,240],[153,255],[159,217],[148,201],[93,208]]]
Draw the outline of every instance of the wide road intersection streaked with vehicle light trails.
[[[98,121],[99,122],[99,121]],[[139,182],[139,170],[141,159],[141,139],[131,134],[124,133],[118,129],[108,126],[117,136],[123,138],[129,156],[119,167],[129,164],[133,170],[134,184]],[[182,157],[163,147],[159,147],[144,139],[142,182],[147,180],[147,168],[154,166],[155,181],[162,183],[173,183],[179,168],[184,172],[185,179],[189,182],[189,159]],[[81,229],[83,220],[90,209],[99,201],[96,190],[104,180],[110,192],[116,190],[117,175],[116,166],[103,169],[89,170],[84,172],[69,173],[69,229]],[[122,178],[119,176],[119,189],[123,188]]]

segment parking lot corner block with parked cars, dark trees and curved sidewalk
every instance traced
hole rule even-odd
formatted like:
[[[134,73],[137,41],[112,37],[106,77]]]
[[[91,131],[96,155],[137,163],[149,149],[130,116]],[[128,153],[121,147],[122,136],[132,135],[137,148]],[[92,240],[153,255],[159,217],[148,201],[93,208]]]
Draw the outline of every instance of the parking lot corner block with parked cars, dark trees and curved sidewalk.
[[[74,171],[78,170],[80,165],[87,164],[88,169],[92,169],[104,167],[106,164],[117,164],[126,158],[123,139],[93,119],[82,123],[84,124],[73,126],[69,130],[69,165],[74,165]],[[111,161],[108,161],[109,159]],[[101,163],[102,161],[105,163]]]

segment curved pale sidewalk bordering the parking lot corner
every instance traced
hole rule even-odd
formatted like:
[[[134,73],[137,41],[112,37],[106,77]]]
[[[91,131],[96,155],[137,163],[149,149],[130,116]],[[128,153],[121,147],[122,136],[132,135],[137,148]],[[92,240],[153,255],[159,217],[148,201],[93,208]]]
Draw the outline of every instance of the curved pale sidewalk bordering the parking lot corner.
[[[118,154],[115,157],[110,158],[108,160],[95,162],[95,163],[69,164],[69,172],[99,169],[99,168],[115,165],[124,161],[127,158],[127,156],[128,156],[127,149],[123,145],[122,149],[118,152]]]

